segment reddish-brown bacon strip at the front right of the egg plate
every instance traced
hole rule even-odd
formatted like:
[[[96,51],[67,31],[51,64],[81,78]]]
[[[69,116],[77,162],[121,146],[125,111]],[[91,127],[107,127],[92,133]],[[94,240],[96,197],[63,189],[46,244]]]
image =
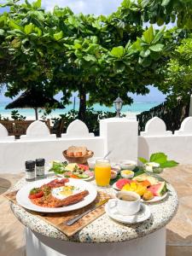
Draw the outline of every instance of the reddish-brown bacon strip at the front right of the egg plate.
[[[84,197],[89,195],[89,191],[84,190],[76,195],[69,195],[67,198],[54,202],[54,207],[67,207],[73,204],[83,201]]]

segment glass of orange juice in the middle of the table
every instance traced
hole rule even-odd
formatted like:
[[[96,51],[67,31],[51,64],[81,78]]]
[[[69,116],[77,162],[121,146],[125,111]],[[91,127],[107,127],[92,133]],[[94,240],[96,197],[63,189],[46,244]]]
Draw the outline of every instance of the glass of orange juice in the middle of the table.
[[[108,159],[96,160],[95,177],[97,186],[108,187],[111,178],[111,165]]]

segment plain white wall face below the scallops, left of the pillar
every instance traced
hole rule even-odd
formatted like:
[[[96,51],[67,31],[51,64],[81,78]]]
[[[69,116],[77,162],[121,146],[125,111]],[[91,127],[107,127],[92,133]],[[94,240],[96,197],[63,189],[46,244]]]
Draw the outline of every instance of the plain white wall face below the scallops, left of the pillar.
[[[103,139],[101,137],[82,139],[55,139],[49,141],[21,141],[0,143],[0,173],[23,172],[26,160],[44,158],[48,164],[51,160],[65,160],[62,151],[69,146],[86,146],[102,156]]]

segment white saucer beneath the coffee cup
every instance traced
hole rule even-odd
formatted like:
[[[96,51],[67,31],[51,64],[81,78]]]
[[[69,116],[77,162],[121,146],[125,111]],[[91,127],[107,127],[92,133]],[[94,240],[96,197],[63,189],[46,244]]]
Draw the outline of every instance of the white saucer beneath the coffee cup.
[[[148,206],[141,203],[140,211],[135,215],[122,215],[118,212],[116,205],[114,204],[116,199],[111,199],[105,205],[105,212],[110,218],[117,220],[124,224],[136,224],[147,220],[151,216],[151,212]]]

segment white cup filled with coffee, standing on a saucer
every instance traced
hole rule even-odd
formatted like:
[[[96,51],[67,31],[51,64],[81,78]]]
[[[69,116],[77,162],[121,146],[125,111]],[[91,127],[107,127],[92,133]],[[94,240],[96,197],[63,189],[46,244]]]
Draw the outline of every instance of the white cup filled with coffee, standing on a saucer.
[[[117,207],[122,215],[134,215],[140,210],[141,197],[133,191],[119,191],[111,207]]]

